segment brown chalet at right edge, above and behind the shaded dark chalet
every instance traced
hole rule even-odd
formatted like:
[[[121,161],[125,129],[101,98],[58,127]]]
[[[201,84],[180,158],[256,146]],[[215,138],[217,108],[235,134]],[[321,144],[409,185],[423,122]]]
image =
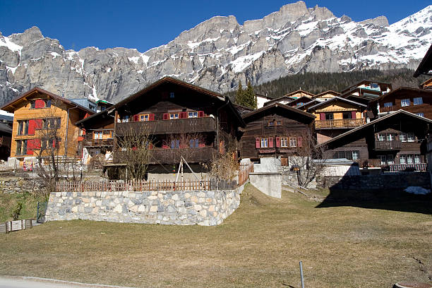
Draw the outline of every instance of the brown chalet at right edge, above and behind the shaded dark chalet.
[[[432,90],[397,88],[371,101],[369,107],[375,118],[402,109],[432,119]]]

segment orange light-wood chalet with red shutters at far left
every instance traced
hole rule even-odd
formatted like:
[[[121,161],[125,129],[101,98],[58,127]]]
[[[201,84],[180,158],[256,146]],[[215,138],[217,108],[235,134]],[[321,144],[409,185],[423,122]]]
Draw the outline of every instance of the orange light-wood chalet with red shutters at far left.
[[[41,145],[56,145],[61,157],[78,157],[80,128],[75,124],[94,114],[86,107],[41,88],[25,92],[0,109],[13,113],[11,158],[19,160],[20,164],[25,157],[34,157]],[[59,139],[43,139],[43,131],[54,127]]]

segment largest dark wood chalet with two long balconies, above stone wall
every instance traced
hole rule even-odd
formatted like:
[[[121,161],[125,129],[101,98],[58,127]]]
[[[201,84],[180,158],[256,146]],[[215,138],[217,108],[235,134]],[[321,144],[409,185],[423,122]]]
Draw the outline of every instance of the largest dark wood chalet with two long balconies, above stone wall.
[[[119,139],[130,135],[128,131],[150,134],[149,164],[172,167],[181,156],[190,164],[204,164],[230,145],[236,150],[239,127],[244,126],[228,97],[171,77],[152,83],[105,113],[114,116],[113,162],[118,165],[124,161]]]

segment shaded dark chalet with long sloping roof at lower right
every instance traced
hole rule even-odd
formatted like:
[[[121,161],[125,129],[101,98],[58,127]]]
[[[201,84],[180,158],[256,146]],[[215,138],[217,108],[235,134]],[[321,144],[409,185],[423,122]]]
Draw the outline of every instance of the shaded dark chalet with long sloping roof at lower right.
[[[360,167],[403,164],[390,169],[424,170],[426,134],[431,125],[431,119],[398,110],[318,145],[325,147],[327,157],[347,158],[359,162]]]

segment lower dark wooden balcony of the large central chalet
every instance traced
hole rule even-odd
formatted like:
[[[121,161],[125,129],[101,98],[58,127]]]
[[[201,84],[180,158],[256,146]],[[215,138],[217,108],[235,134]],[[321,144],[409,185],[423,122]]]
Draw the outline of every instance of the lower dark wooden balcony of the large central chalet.
[[[148,164],[174,164],[180,162],[183,156],[188,163],[204,163],[213,159],[216,149],[213,147],[203,148],[183,148],[183,149],[163,149],[154,148],[150,150],[150,160]],[[126,162],[127,157],[124,152],[114,153],[114,163]]]

